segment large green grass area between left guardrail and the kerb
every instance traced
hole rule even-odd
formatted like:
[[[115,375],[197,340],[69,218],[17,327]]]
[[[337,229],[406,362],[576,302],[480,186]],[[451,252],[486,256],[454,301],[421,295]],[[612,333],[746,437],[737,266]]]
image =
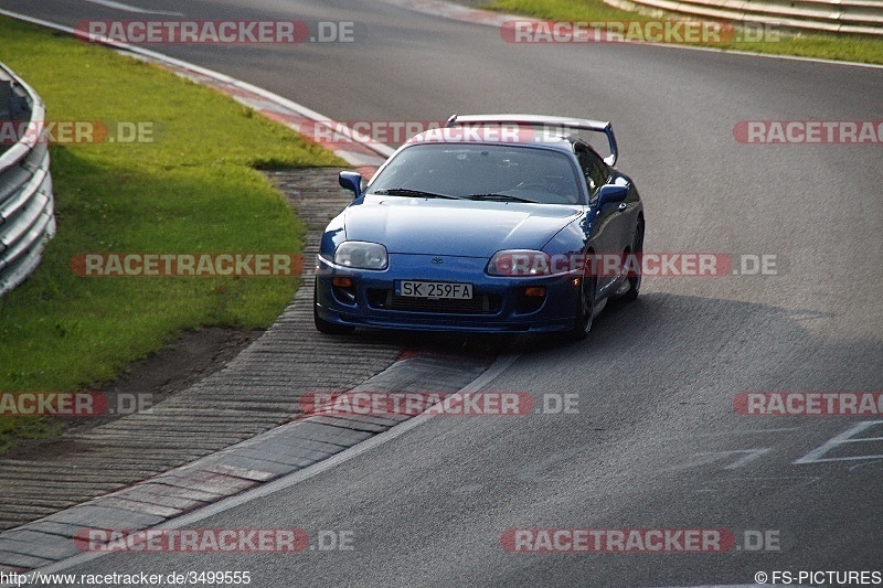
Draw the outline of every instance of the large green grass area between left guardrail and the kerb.
[[[263,328],[298,278],[86,278],[78,253],[290,253],[305,229],[256,167],[344,165],[221,94],[115,52],[0,18],[0,61],[49,120],[155,121],[153,143],[51,147],[58,234],[0,298],[0,392],[94,389],[201,325]],[[0,451],[57,432],[0,417]]]

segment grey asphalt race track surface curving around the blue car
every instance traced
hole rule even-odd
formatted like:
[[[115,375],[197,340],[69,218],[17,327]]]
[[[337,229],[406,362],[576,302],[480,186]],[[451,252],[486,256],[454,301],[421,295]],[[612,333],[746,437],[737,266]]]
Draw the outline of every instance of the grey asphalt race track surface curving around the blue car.
[[[606,310],[586,342],[522,343],[483,388],[578,394],[578,414],[430,419],[192,525],[298,527],[312,547],[321,531],[342,531],[352,550],[114,554],[70,571],[237,569],[256,586],[643,587],[751,585],[758,570],[883,571],[883,418],[733,410],[743,391],[883,388],[883,147],[733,136],[741,120],[883,120],[883,70],[512,45],[492,28],[383,2],[130,4],[185,19],[353,21],[353,43],[151,47],[341,120],[611,120],[618,167],[646,203],[647,250],[776,255],[779,274],[648,278],[641,298]],[[67,25],[149,18],[83,0],[0,7]],[[863,421],[852,442],[819,450]],[[744,548],[503,548],[507,530],[531,527],[725,528]],[[751,550],[745,531],[772,532],[778,550]]]

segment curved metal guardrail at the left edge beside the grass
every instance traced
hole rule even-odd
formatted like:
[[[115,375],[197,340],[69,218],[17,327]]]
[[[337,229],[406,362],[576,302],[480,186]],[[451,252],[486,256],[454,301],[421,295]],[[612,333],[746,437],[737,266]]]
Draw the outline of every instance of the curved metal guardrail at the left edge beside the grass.
[[[40,96],[0,63],[0,125],[18,139],[10,146],[13,133],[0,133],[0,296],[36,268],[55,235],[45,118]]]

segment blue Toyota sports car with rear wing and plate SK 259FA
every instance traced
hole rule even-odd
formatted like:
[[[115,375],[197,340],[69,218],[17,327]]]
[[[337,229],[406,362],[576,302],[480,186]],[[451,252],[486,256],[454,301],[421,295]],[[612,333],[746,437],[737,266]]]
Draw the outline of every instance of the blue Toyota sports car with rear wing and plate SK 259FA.
[[[579,137],[606,136],[599,156]],[[609,122],[451,117],[405,142],[322,235],[313,317],[357,327],[554,332],[584,339],[607,300],[641,285],[643,205],[614,169]],[[637,254],[637,255],[629,255]]]

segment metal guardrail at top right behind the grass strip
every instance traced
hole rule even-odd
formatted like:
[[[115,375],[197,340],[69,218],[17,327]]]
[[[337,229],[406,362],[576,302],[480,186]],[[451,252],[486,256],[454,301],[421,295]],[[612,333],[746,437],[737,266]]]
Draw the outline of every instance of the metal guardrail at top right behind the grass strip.
[[[604,0],[736,23],[801,31],[883,35],[883,0]]]

